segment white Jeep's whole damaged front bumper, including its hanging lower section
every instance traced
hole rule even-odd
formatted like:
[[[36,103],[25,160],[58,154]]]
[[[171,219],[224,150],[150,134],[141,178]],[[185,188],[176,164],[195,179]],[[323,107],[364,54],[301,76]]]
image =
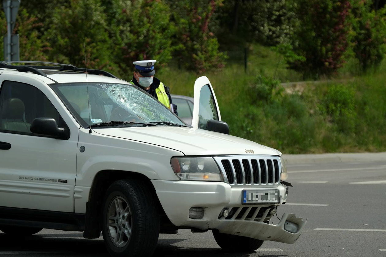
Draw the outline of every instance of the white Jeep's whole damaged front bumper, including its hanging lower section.
[[[231,188],[222,182],[152,180],[152,183],[166,215],[176,227],[218,230],[220,233],[293,244],[306,223],[288,213],[277,225],[266,223],[273,215],[273,208],[286,201],[287,192],[283,185],[275,187],[279,190],[279,203],[242,205],[243,188]],[[202,208],[203,217],[190,218],[191,207]],[[229,216],[222,216],[224,209],[229,210]],[[286,222],[295,223],[296,232],[287,231]]]

